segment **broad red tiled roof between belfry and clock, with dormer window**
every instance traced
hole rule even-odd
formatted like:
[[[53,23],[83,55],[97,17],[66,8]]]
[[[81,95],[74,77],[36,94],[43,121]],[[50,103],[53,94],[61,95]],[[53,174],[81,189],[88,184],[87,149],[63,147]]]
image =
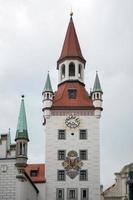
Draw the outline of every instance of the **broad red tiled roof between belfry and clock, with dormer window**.
[[[76,89],[76,99],[70,99],[68,96],[69,89]],[[89,97],[85,86],[79,82],[65,82],[59,85],[55,92],[52,109],[93,109],[92,99]]]

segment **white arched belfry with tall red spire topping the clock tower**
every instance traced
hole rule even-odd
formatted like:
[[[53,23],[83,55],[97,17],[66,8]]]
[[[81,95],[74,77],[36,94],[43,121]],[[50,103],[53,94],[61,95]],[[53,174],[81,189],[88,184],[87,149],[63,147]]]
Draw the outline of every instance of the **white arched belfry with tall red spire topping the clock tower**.
[[[61,55],[57,61],[59,84],[68,81],[84,83],[84,59],[78,37],[76,34],[73,18],[70,14],[70,22],[62,47]]]

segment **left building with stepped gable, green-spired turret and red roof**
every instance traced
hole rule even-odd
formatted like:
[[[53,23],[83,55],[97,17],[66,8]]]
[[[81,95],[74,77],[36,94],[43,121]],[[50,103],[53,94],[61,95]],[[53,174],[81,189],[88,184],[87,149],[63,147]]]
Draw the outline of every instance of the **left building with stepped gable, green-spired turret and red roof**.
[[[24,96],[15,142],[11,144],[10,129],[0,135],[0,200],[45,200],[44,164],[27,165],[29,137]]]

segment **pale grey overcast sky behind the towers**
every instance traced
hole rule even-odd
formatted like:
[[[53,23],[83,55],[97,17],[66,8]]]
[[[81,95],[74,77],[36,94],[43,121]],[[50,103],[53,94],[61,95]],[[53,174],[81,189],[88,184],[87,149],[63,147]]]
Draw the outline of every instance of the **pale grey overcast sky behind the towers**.
[[[47,71],[56,90],[59,58],[69,13],[87,60],[85,83],[99,71],[104,102],[101,119],[101,183],[133,162],[133,1],[0,0],[0,132],[15,137],[20,96],[25,94],[29,162],[44,162],[42,96]]]

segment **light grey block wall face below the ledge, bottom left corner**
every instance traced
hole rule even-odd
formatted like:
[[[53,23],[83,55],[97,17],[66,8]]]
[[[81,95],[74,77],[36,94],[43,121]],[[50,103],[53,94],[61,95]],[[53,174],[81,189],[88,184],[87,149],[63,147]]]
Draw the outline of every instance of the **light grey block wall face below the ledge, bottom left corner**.
[[[15,159],[0,159],[0,200],[16,200]]]

